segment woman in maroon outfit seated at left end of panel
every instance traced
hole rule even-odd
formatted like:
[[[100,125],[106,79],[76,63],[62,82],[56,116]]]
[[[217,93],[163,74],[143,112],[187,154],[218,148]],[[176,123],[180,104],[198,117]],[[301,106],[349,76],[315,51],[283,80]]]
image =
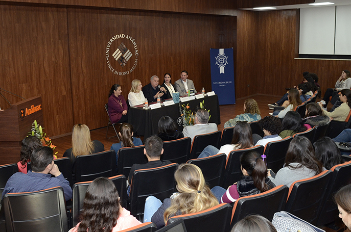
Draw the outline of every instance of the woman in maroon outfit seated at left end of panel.
[[[121,123],[128,120],[127,102],[122,96],[121,86],[114,84],[108,93],[108,114],[112,123]]]

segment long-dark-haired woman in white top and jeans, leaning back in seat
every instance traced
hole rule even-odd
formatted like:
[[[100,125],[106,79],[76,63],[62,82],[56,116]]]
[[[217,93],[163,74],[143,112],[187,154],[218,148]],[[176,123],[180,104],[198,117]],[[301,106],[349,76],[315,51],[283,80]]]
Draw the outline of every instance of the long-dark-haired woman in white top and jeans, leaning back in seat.
[[[227,156],[232,150],[244,149],[253,146],[251,127],[247,122],[238,121],[233,129],[231,144],[225,144],[220,149],[212,145],[206,146],[198,158],[214,156],[218,153],[225,153]]]

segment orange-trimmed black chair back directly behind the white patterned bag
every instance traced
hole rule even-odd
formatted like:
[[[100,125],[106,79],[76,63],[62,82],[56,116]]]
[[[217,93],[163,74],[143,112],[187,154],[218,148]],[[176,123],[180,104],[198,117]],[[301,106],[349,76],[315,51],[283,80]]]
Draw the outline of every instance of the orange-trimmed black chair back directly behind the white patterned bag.
[[[316,224],[332,174],[331,170],[325,170],[310,178],[295,181],[289,188],[285,211]]]

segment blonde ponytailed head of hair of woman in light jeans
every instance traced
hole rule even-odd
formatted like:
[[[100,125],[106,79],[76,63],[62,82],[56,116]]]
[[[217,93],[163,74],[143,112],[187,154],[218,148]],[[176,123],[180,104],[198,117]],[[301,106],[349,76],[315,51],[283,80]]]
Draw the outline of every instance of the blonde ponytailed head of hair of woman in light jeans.
[[[163,215],[165,222],[177,212],[197,213],[218,204],[217,198],[208,188],[198,166],[181,164],[174,173],[174,178],[180,194],[171,201],[171,206],[165,211]]]

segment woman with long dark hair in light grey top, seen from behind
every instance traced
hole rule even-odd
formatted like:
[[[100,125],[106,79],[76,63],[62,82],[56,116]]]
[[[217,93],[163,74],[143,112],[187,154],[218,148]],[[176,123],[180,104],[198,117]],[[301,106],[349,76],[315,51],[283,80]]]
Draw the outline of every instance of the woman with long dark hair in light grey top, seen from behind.
[[[299,179],[305,179],[319,174],[323,170],[322,163],[315,157],[312,143],[305,136],[297,136],[290,142],[285,164],[275,178],[268,172],[268,177],[276,185],[290,187]]]

